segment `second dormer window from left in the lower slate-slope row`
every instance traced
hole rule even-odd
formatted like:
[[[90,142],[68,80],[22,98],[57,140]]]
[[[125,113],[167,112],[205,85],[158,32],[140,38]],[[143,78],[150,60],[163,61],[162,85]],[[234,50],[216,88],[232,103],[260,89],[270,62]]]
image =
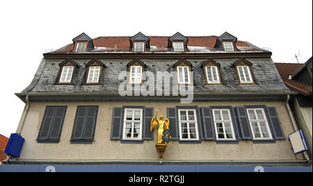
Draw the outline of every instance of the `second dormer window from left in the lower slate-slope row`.
[[[104,64],[99,60],[91,60],[86,64],[86,80],[83,85],[100,85],[100,77]]]

